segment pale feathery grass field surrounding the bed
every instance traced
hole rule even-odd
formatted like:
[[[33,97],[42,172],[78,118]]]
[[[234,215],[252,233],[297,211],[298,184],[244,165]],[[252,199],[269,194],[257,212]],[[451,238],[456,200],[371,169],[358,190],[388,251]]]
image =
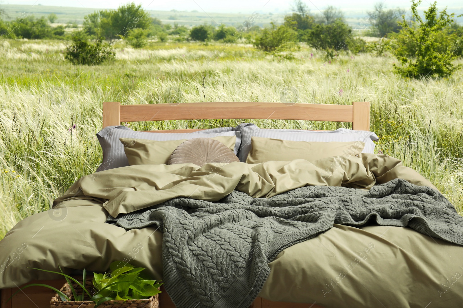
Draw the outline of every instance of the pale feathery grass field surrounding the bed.
[[[0,43],[0,238],[101,161],[95,133],[105,101],[371,102],[376,151],[403,160],[463,209],[463,71],[450,79],[405,80],[394,59],[344,54],[332,63],[311,48],[278,61],[249,45],[231,45],[216,59],[198,43],[116,46],[116,60],[72,66],[57,41]],[[459,60],[459,62],[463,62]],[[342,90],[342,91],[341,91]],[[134,129],[219,127],[240,121],[131,123]],[[260,127],[335,129],[349,123],[254,121]],[[75,125],[75,128],[73,126]]]

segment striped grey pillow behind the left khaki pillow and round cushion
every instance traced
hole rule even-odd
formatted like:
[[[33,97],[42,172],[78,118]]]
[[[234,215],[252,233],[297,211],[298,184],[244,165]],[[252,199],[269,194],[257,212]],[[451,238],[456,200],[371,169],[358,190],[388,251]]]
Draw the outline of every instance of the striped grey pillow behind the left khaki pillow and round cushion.
[[[219,127],[193,133],[147,133],[137,132],[125,126],[108,126],[96,134],[103,150],[103,162],[96,171],[128,166],[129,162],[124,152],[124,145],[119,138],[136,138],[148,140],[180,140],[192,138],[213,138],[217,136],[236,136],[234,153],[238,153],[241,144],[241,133],[233,127]]]

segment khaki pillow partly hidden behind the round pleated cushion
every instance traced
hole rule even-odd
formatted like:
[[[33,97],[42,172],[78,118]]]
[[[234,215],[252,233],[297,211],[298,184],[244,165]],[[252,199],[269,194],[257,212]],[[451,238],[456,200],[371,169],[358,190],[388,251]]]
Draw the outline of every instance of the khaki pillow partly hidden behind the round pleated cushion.
[[[218,140],[233,151],[236,143],[236,136],[217,136],[212,139]],[[169,163],[172,152],[187,139],[180,140],[146,140],[134,138],[120,138],[124,145],[125,156],[129,165],[157,165]]]

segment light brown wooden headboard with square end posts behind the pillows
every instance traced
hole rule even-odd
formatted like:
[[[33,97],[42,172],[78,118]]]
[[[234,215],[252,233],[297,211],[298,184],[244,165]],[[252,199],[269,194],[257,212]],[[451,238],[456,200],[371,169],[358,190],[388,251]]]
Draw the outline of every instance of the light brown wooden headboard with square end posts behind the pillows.
[[[121,105],[103,103],[103,128],[120,122],[206,120],[206,119],[273,119],[352,122],[354,130],[370,130],[370,103],[352,105],[306,103],[177,103]],[[185,133],[200,129],[175,129],[158,133]]]

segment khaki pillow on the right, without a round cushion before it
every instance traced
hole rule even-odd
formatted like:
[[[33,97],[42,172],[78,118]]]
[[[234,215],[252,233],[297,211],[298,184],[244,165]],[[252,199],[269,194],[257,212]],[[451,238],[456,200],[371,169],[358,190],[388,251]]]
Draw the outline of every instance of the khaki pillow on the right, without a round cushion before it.
[[[364,147],[365,143],[360,141],[309,142],[252,137],[246,163],[265,163],[271,160],[286,162],[294,159],[313,162],[332,156],[357,156]]]

